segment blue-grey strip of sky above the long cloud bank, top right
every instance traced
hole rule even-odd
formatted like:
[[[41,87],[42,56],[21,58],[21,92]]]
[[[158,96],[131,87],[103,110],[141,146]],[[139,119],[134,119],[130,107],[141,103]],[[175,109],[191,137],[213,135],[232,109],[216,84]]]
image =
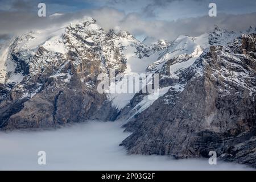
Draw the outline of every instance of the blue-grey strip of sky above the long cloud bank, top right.
[[[100,0],[97,0],[100,1]],[[211,2],[217,4],[218,13],[246,14],[256,12],[255,0],[110,0],[110,7],[125,12],[141,13],[144,18],[179,19],[203,16]]]

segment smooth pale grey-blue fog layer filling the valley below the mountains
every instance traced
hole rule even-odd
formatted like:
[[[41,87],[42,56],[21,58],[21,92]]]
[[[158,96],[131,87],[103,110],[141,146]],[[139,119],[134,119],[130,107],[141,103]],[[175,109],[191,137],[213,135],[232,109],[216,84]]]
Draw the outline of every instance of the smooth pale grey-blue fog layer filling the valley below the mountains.
[[[209,165],[208,159],[175,160],[167,156],[126,155],[118,146],[129,133],[120,122],[79,123],[51,131],[0,132],[0,169],[89,170],[240,170],[243,165]],[[38,164],[46,151],[46,165]]]

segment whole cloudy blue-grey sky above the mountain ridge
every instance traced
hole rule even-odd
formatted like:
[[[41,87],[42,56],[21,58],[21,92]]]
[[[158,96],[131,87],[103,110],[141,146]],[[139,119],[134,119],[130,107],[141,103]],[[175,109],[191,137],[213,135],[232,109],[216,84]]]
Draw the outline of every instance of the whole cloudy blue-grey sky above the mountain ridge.
[[[38,17],[38,3],[46,17]],[[209,17],[210,2],[217,16]],[[59,13],[60,16],[51,16]],[[92,16],[103,28],[119,27],[138,39],[152,36],[173,40],[180,34],[197,36],[214,24],[241,31],[256,26],[255,0],[0,0],[0,40],[34,29],[59,27]]]

